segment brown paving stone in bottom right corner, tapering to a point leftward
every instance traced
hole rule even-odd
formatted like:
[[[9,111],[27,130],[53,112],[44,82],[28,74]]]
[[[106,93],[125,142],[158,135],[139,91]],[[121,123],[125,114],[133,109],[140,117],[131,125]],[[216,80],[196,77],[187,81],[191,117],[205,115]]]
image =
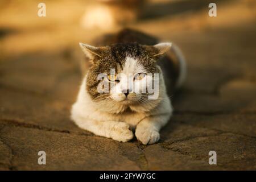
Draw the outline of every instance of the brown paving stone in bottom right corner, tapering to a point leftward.
[[[231,133],[212,137],[196,137],[165,146],[196,159],[208,160],[209,151],[216,151],[217,166],[234,170],[255,170],[256,138]]]

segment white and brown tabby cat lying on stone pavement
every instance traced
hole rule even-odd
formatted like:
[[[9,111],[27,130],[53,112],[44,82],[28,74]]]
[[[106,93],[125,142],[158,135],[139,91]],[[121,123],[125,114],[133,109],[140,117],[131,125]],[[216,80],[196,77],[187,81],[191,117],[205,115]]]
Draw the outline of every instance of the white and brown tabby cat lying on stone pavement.
[[[71,110],[76,125],[119,142],[133,139],[134,130],[141,143],[158,142],[160,129],[172,115],[170,97],[186,75],[180,49],[173,43],[159,43],[153,36],[129,28],[98,38],[94,46],[80,43],[80,47],[86,56],[87,72]],[[110,69],[115,75],[110,74]],[[102,73],[103,81],[98,80]],[[144,85],[138,82],[155,81],[155,75],[158,85],[152,85],[158,86],[154,90],[158,97],[149,99],[152,94],[147,93],[147,82]],[[101,82],[110,85],[109,93],[99,92]],[[136,87],[147,91],[134,93]]]

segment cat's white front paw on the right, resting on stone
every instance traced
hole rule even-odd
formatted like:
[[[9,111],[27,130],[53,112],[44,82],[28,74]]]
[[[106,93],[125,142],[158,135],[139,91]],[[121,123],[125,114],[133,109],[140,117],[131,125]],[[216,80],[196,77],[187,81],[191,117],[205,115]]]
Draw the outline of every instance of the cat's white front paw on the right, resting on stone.
[[[135,131],[135,136],[143,144],[153,144],[160,139],[160,134],[158,131],[148,129],[145,127],[139,127]]]

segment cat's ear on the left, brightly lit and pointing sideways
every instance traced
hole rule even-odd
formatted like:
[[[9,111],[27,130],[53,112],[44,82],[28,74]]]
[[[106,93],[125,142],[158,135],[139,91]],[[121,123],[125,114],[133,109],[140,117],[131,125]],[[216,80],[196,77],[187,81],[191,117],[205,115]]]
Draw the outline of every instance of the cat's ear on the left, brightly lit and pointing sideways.
[[[96,57],[100,58],[104,56],[104,53],[108,49],[108,47],[94,47],[89,44],[79,43],[79,46],[82,49],[82,52],[85,53],[90,60],[94,60]]]

